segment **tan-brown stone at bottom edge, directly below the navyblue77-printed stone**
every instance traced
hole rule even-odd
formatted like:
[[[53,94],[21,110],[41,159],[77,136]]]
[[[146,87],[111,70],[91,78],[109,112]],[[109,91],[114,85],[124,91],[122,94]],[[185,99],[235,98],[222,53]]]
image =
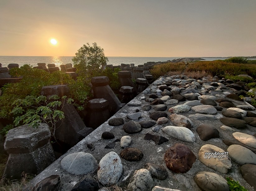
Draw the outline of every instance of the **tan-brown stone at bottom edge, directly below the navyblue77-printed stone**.
[[[195,176],[195,181],[201,190],[229,191],[227,180],[213,172],[198,172]]]

